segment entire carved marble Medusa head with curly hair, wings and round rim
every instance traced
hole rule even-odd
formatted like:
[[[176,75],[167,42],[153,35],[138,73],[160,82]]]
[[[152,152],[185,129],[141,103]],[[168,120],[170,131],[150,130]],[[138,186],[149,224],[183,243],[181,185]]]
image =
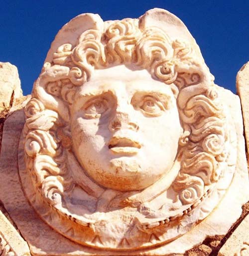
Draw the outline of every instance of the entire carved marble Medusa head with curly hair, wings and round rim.
[[[214,78],[187,28],[176,33],[162,14],[70,21],[25,107],[25,194],[81,245],[166,244],[207,217],[232,181],[236,136]]]

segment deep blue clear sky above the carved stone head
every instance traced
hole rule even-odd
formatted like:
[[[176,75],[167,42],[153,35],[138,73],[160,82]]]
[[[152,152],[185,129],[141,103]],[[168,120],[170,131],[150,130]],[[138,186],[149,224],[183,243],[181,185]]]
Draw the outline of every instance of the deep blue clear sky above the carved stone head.
[[[215,82],[235,89],[249,61],[249,0],[1,0],[0,61],[16,65],[24,95],[31,92],[57,31],[74,16],[139,17],[160,7],[177,15],[199,44]]]

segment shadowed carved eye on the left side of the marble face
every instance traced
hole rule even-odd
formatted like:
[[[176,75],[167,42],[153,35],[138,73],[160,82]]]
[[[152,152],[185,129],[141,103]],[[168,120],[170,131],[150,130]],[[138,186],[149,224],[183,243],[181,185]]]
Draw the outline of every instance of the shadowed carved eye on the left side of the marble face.
[[[108,101],[103,98],[90,100],[84,107],[85,115],[89,117],[99,117],[108,110]]]

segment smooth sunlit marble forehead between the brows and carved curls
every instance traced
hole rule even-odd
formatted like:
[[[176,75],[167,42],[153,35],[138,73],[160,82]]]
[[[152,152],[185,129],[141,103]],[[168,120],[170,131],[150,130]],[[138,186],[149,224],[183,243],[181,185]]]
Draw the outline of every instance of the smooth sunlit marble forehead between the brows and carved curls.
[[[155,91],[172,94],[165,83],[155,80],[146,69],[130,69],[118,65],[106,69],[95,69],[88,82],[80,87],[79,94],[96,94],[108,90]]]

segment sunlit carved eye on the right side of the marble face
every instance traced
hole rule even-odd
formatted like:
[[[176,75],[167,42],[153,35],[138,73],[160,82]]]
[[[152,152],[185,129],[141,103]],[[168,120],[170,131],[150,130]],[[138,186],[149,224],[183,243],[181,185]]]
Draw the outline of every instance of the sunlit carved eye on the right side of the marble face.
[[[156,98],[145,96],[140,109],[149,116],[159,116],[165,110],[163,104]]]

